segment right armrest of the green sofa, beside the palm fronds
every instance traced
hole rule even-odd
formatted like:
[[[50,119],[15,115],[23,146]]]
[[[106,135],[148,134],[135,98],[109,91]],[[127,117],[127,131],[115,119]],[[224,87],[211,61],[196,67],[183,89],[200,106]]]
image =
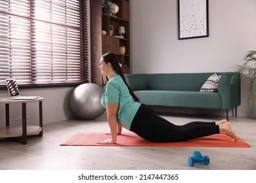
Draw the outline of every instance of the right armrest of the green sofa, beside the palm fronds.
[[[223,101],[223,109],[230,109],[241,104],[241,80],[232,85],[229,82],[231,73],[223,73],[218,83],[218,92]]]

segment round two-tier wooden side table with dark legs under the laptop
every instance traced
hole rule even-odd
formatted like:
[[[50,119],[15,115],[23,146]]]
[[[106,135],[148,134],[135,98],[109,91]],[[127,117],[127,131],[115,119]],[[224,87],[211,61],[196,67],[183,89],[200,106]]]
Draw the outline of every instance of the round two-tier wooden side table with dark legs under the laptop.
[[[39,103],[39,126],[27,125],[27,103]],[[22,144],[27,144],[28,137],[40,137],[43,135],[43,97],[33,100],[12,100],[10,97],[0,98],[0,104],[5,104],[5,127],[0,128],[0,139],[5,140],[9,138],[22,137]],[[9,105],[21,104],[22,107],[22,125],[10,126],[10,110]],[[20,139],[20,138],[18,138]]]

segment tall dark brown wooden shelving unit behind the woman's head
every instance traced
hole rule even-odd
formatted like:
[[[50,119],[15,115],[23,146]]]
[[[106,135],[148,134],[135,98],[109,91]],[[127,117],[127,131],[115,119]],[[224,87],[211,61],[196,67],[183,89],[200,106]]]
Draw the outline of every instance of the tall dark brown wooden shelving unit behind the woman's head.
[[[112,52],[117,55],[119,62],[123,65],[123,73],[131,72],[130,52],[130,22],[129,22],[129,0],[113,0],[119,10],[116,16],[102,13],[101,0],[91,0],[91,74],[92,82],[102,85],[99,62],[102,54]],[[114,27],[114,33],[109,35],[109,27]],[[124,39],[117,37],[119,26],[125,27]],[[102,35],[102,31],[106,35]],[[120,54],[119,46],[125,46],[125,54]]]

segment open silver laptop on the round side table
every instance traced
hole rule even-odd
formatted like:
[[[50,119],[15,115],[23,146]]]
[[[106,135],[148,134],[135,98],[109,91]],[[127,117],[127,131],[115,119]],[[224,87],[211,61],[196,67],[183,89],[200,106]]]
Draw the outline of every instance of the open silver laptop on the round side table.
[[[5,81],[12,100],[33,100],[39,98],[39,96],[20,96],[16,79],[6,78]]]

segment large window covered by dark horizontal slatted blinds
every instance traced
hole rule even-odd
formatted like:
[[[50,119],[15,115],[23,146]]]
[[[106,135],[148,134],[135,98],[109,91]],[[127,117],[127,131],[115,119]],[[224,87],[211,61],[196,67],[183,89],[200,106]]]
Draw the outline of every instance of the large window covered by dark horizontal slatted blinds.
[[[0,0],[0,86],[89,82],[87,1]]]

